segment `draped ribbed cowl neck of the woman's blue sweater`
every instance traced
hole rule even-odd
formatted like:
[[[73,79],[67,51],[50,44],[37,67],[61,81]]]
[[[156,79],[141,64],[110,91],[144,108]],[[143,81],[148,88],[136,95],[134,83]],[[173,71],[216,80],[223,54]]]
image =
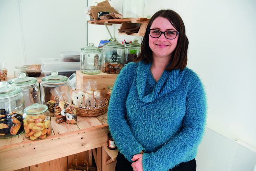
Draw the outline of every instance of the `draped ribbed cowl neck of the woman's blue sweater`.
[[[150,74],[150,66],[151,63],[145,64],[143,61],[138,63],[138,68],[136,71],[136,86],[139,95],[139,100],[148,103],[153,102],[154,100],[160,98],[161,96],[170,93],[174,90],[181,82],[182,77],[184,75],[184,70],[172,70],[172,71],[165,71],[162,73],[160,79],[155,86],[151,93],[145,95],[145,89],[147,88],[147,81],[149,80]],[[153,79],[151,79],[153,80]]]

